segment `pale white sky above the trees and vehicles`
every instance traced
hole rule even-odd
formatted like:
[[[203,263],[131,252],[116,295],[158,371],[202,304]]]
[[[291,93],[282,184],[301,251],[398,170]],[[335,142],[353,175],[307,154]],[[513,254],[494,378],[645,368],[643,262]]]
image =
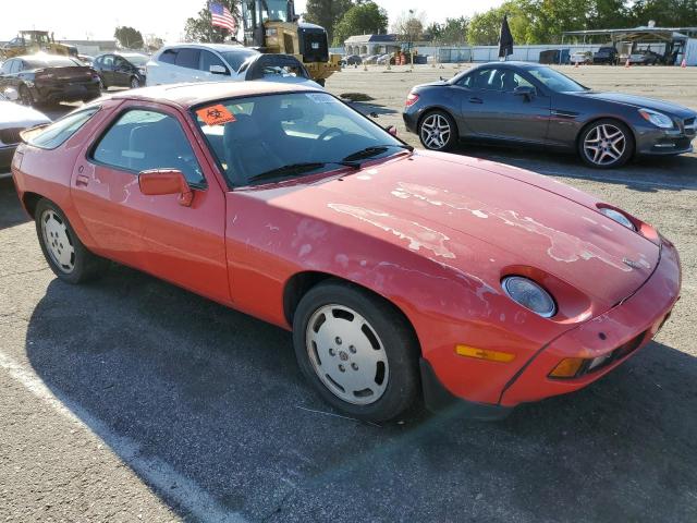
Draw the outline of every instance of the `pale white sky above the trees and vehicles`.
[[[470,15],[498,5],[502,0],[432,0],[425,8],[423,0],[377,0],[387,9],[390,22],[402,11],[426,11],[427,22],[441,22],[447,16]],[[56,38],[112,38],[117,25],[130,25],[144,35],[154,33],[169,41],[180,38],[184,22],[195,15],[204,0],[179,0],[170,3],[149,0],[2,0],[0,8],[0,40],[16,36],[19,29],[53,31]],[[295,10],[305,10],[305,0],[295,1]]]

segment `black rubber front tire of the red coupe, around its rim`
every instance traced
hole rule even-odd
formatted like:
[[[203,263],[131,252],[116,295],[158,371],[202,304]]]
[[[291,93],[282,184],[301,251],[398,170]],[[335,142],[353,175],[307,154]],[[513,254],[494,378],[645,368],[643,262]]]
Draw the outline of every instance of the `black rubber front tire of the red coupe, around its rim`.
[[[313,317],[316,316],[316,313],[321,314],[328,306],[344,307],[362,316],[365,323],[368,324],[369,329],[375,333],[375,338],[370,338],[370,340],[379,343],[381,350],[383,350],[383,355],[387,356],[387,364],[383,364],[383,379],[387,384],[377,385],[379,380],[378,370],[374,378],[376,388],[382,387],[383,389],[380,392],[381,396],[376,394],[377,400],[372,402],[354,404],[344,401],[322,381],[325,378],[320,379],[319,373],[321,370],[315,369],[316,363],[314,362],[319,361],[318,351],[327,351],[328,349],[317,348],[311,341],[308,343],[308,325]],[[334,308],[332,308],[332,312],[333,311]],[[330,319],[337,323],[338,329],[341,329],[342,326],[340,323],[342,320],[348,321],[345,317],[337,318],[333,317],[333,315]],[[322,320],[318,329],[327,321],[328,319]],[[317,325],[318,321],[314,320],[313,323]],[[331,324],[327,325],[330,326]],[[328,332],[332,333],[337,332],[337,330],[330,328]],[[365,360],[360,360],[360,357],[365,355],[362,354],[362,350],[367,346],[365,344],[365,341],[369,340],[367,336],[365,340],[356,339],[355,344],[358,345],[357,353],[353,345],[353,338],[350,338],[348,341],[344,339],[343,345],[339,337],[330,337],[329,339],[333,340],[331,342],[332,345],[334,342],[337,343],[333,348],[337,360],[326,360],[326,362],[331,362],[332,368],[334,364],[341,367],[343,363],[348,373],[346,376],[350,376],[354,362],[360,362],[363,366]],[[295,346],[297,363],[307,380],[325,401],[351,417],[381,423],[394,419],[416,405],[420,390],[418,374],[418,355],[420,350],[415,335],[404,317],[389,302],[375,296],[359,287],[339,280],[328,280],[310,289],[301,300],[293,317],[293,344]],[[375,349],[375,345],[372,345],[372,349]],[[368,352],[370,352],[370,350],[371,349],[368,348]],[[311,356],[310,351],[314,351]],[[332,349],[328,351],[329,352],[322,352],[322,357],[330,357],[329,354]],[[353,356],[351,355],[352,351]],[[332,357],[334,355],[332,355]],[[327,366],[329,366],[329,363],[327,363]],[[363,369],[364,375],[372,376],[369,372],[370,368],[371,367],[366,366]],[[356,366],[355,372],[358,370]],[[366,373],[366,370],[368,372]],[[325,376],[331,379],[329,375],[325,374]],[[335,384],[335,381],[332,382]],[[355,398],[359,398],[359,396],[356,394]],[[358,401],[370,401],[370,398]]]

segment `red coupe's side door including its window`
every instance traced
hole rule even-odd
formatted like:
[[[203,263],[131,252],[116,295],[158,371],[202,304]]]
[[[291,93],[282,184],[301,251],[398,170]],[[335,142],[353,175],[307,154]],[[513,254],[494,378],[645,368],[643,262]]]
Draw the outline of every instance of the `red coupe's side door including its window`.
[[[124,102],[85,147],[72,196],[106,256],[219,302],[230,302],[224,245],[224,192],[183,114],[157,104]],[[140,171],[181,170],[194,198],[148,196]]]

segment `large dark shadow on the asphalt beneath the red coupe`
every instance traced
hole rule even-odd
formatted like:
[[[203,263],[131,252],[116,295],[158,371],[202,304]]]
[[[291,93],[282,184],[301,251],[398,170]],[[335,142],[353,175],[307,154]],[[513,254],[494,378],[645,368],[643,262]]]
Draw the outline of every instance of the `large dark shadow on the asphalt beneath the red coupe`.
[[[90,285],[51,282],[26,351],[187,520],[213,516],[137,459],[248,521],[696,521],[697,361],[661,343],[500,423],[453,411],[378,427],[332,415],[288,332],[114,266]]]

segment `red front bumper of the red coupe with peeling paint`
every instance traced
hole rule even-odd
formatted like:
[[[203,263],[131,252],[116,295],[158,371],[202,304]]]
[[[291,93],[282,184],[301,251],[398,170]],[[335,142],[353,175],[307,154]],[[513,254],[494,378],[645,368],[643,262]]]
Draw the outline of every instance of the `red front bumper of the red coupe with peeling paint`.
[[[426,404],[431,410],[460,403],[464,415],[492,419],[504,417],[519,403],[539,401],[582,389],[621,365],[656,336],[680,297],[681,267],[675,247],[661,240],[661,255],[653,273],[629,297],[610,311],[567,330],[538,350],[508,380],[496,403],[472,402],[450,392],[430,367],[421,363]],[[549,374],[564,358],[611,355],[597,368],[577,378],[557,379]],[[458,357],[458,356],[455,356]],[[429,373],[430,370],[430,373]]]

